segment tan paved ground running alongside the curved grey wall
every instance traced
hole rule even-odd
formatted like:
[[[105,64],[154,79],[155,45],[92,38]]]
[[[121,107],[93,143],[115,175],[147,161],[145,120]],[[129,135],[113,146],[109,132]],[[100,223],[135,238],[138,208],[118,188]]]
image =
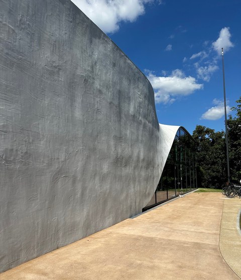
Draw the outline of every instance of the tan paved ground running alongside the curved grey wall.
[[[4,272],[0,279],[238,280],[241,258],[233,263],[228,252],[240,248],[241,236],[235,243],[224,240],[237,231],[236,224],[225,221],[236,219],[241,199],[229,201],[220,193],[186,195]]]

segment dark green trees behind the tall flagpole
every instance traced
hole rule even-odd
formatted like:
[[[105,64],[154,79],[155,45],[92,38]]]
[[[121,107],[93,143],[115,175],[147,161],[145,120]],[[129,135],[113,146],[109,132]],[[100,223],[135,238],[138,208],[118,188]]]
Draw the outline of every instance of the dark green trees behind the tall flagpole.
[[[241,179],[241,97],[233,107],[235,116],[228,116],[228,150],[230,179],[239,182]],[[226,144],[224,131],[197,125],[193,131],[197,142],[197,180],[199,187],[221,188],[227,181]]]

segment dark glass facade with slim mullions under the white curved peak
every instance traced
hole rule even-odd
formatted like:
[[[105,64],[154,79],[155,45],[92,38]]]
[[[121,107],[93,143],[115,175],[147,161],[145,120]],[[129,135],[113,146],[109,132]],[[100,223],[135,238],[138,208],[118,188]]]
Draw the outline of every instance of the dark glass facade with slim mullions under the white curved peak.
[[[197,188],[195,149],[192,136],[180,127],[157,189],[150,202],[143,208],[144,211]]]

